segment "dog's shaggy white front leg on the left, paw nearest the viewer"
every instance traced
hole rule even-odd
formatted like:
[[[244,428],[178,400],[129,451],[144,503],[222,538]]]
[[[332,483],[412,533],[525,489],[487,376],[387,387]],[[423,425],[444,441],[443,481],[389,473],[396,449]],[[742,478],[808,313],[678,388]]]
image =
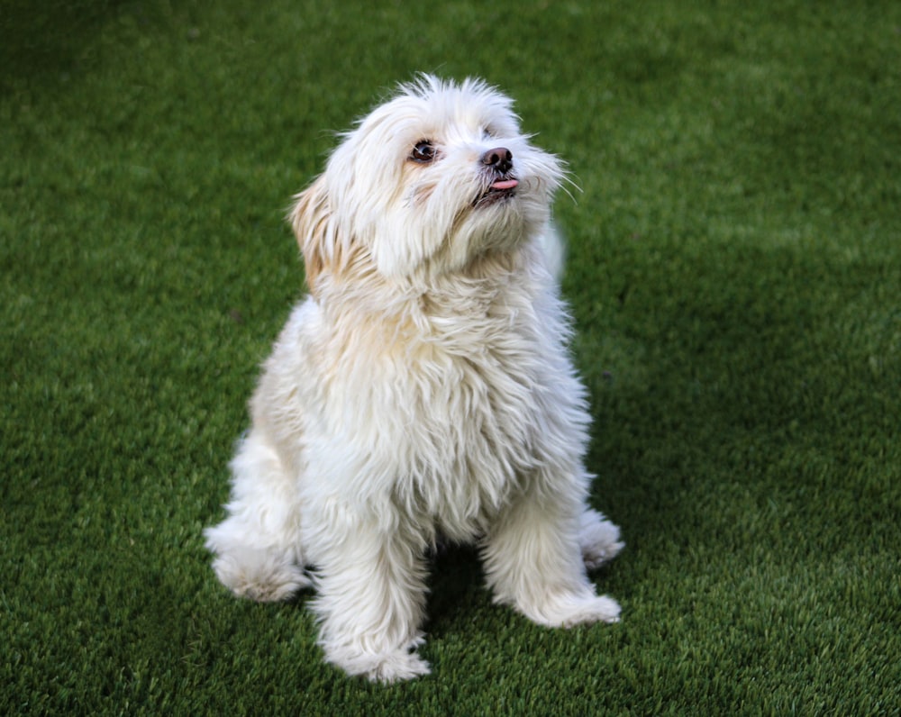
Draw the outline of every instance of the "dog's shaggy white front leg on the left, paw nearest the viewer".
[[[422,540],[413,531],[390,529],[375,516],[342,506],[337,521],[317,536],[319,643],[326,659],[350,675],[373,681],[426,675],[416,647],[425,606],[426,567]]]

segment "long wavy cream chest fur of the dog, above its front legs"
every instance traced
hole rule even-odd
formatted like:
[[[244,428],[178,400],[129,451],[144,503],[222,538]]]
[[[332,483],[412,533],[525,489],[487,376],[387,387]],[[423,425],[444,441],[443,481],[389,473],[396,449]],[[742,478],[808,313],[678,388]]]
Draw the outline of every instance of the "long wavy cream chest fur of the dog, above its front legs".
[[[341,349],[336,423],[401,499],[462,524],[496,509],[540,459],[553,343],[531,312],[428,318],[405,331],[370,326],[369,338],[357,333],[366,347]]]

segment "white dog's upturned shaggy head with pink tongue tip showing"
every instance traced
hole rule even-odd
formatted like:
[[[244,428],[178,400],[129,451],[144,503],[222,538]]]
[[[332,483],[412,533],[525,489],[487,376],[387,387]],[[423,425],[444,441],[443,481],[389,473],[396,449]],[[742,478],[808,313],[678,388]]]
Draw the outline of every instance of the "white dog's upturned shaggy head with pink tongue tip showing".
[[[560,161],[477,80],[421,77],[344,135],[291,214],[315,292],[323,272],[447,273],[542,231]]]

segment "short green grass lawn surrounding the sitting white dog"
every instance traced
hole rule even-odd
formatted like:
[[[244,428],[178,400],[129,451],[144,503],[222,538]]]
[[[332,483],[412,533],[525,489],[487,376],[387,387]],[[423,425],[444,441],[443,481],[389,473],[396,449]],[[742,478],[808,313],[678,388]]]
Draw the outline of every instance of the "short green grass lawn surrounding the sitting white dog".
[[[0,3],[0,712],[898,714],[901,5]],[[434,568],[433,674],[323,664],[201,531],[332,131],[479,75],[569,160],[623,622]]]

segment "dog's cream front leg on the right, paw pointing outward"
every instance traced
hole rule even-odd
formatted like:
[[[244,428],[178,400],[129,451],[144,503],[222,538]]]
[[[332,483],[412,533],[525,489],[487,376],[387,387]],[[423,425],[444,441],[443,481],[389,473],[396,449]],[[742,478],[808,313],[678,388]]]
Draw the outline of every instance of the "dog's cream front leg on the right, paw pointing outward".
[[[586,575],[579,540],[584,511],[581,500],[530,491],[499,516],[483,549],[497,603],[551,627],[619,620],[619,605],[597,595]]]

